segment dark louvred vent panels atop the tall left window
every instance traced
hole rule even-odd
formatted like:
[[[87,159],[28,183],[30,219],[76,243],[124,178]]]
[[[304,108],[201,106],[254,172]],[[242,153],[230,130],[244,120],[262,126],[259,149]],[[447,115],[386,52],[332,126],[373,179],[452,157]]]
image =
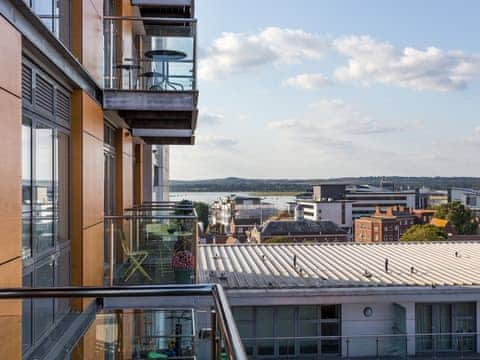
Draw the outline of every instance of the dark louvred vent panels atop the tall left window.
[[[64,126],[70,123],[70,91],[25,58],[22,63],[22,101],[24,107],[49,120]]]

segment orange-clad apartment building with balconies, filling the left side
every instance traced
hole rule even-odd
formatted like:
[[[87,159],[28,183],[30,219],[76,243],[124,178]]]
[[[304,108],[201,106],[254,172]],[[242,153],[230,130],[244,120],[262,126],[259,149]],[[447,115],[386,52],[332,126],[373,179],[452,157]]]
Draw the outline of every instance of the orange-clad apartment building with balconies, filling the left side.
[[[152,202],[168,187],[159,152],[195,140],[194,10],[193,0],[0,0],[2,358],[195,357],[194,338],[181,338],[198,331],[192,306],[159,310],[175,291],[134,286],[196,281],[195,211]],[[228,314],[217,290],[189,291]],[[223,314],[224,355],[243,359]]]

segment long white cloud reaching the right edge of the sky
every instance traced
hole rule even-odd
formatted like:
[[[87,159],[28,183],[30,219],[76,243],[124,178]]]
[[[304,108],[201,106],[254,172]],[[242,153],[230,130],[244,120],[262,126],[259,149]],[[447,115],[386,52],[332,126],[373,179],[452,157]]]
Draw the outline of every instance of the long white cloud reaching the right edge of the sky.
[[[333,41],[348,57],[348,65],[334,75],[341,81],[383,83],[415,90],[451,91],[468,86],[480,76],[480,56],[436,47],[397,49],[369,36],[347,36]]]

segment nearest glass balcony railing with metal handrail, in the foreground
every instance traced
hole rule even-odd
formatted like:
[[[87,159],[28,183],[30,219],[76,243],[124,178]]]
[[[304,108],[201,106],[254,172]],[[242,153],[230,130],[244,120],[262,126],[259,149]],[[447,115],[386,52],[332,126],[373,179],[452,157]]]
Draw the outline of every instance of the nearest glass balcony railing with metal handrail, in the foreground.
[[[3,289],[0,307],[2,358],[247,359],[218,285]]]

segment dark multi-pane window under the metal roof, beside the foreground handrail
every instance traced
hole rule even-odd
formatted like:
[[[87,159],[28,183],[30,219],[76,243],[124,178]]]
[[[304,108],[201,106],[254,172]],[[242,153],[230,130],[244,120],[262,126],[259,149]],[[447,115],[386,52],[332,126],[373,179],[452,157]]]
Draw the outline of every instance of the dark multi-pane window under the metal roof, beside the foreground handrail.
[[[233,315],[252,359],[340,354],[339,305],[234,307]]]

